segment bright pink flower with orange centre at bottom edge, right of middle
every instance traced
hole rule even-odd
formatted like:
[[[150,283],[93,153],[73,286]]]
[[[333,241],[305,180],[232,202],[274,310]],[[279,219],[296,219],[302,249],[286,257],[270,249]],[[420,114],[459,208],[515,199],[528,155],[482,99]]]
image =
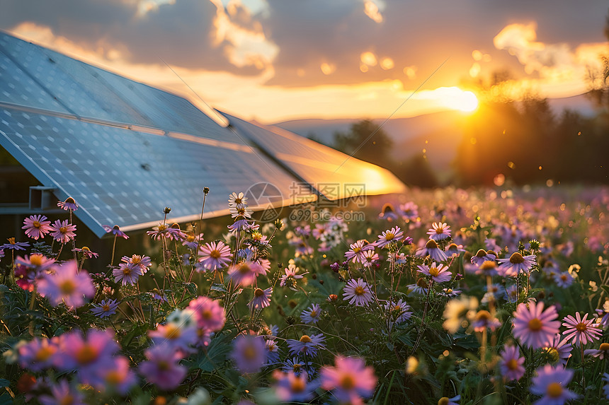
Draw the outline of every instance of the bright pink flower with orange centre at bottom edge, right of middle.
[[[363,404],[375,391],[377,377],[374,368],[362,358],[336,356],[336,367],[321,368],[321,388],[332,390],[338,402]]]

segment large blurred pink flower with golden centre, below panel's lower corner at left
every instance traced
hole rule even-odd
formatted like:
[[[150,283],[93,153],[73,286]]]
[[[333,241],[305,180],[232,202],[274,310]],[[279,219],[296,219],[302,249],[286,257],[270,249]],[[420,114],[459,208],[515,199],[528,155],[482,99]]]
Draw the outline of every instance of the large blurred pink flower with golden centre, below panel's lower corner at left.
[[[86,271],[78,272],[74,260],[57,267],[55,273],[42,274],[38,281],[38,293],[57,307],[65,303],[67,307],[81,307],[86,297],[93,297],[95,288],[91,276]]]

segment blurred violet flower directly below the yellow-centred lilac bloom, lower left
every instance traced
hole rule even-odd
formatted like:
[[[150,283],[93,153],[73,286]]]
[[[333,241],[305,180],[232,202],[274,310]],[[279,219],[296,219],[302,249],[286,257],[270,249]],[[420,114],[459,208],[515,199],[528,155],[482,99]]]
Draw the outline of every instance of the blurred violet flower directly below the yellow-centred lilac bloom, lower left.
[[[140,373],[145,380],[160,389],[177,388],[188,373],[186,367],[178,364],[180,354],[165,344],[152,346],[144,354],[148,360],[140,363]]]

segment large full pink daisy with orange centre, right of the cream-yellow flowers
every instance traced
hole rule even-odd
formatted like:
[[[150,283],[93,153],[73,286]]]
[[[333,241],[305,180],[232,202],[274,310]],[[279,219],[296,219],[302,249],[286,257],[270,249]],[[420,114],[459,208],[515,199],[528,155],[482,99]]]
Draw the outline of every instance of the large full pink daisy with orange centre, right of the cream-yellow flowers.
[[[513,313],[514,337],[520,340],[524,346],[534,349],[542,348],[550,344],[554,335],[559,332],[560,321],[557,321],[558,313],[552,305],[545,311],[543,303],[520,304]]]

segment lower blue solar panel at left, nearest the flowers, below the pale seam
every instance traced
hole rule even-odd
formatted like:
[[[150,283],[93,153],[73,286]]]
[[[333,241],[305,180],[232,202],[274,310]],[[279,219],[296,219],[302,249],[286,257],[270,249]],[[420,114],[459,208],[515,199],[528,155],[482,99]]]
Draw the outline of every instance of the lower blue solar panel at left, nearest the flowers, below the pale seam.
[[[45,186],[56,187],[59,198],[74,197],[79,218],[99,236],[103,224],[125,230],[147,226],[161,218],[165,206],[172,208],[173,221],[192,221],[200,212],[203,187],[211,190],[208,216],[227,213],[231,192],[271,177],[284,196],[290,193],[292,177],[253,151],[0,111],[2,146]]]

